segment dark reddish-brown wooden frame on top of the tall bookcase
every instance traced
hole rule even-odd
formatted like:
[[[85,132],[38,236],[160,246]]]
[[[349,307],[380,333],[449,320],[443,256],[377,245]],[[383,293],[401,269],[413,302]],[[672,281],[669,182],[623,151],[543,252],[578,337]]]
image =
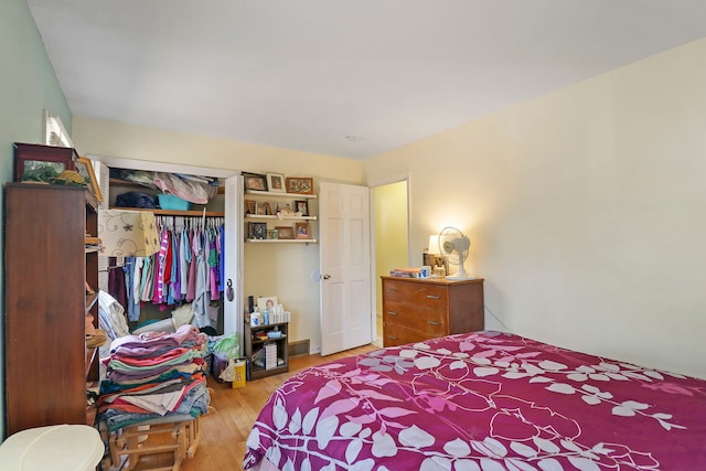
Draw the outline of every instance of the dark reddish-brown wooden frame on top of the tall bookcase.
[[[50,183],[38,178],[26,178],[25,173],[39,174],[43,169],[49,169],[60,174],[64,170],[76,170],[74,164],[76,157],[74,149],[71,148],[15,143],[14,181]]]

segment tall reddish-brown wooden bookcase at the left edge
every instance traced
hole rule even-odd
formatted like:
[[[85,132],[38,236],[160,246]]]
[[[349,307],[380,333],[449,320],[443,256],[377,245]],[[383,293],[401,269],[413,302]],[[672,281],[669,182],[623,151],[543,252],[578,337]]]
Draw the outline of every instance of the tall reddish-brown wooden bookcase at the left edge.
[[[86,318],[98,325],[97,206],[84,188],[6,184],[8,436],[94,425],[86,390],[98,384],[99,365],[96,349],[86,347]]]

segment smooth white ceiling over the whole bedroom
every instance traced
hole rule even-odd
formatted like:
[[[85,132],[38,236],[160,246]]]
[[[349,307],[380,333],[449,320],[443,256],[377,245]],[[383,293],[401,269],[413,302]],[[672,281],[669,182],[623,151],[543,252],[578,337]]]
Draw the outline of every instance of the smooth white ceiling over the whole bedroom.
[[[355,159],[706,35],[704,0],[28,3],[75,116]]]

